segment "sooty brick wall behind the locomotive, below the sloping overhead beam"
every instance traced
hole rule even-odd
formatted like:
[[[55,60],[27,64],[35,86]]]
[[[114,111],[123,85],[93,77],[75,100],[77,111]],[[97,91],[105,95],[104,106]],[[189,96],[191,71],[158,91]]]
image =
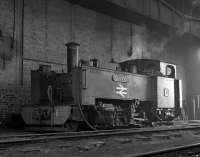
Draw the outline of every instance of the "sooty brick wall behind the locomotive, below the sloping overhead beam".
[[[0,29],[3,35],[13,35],[14,0],[0,1]],[[127,59],[159,59],[177,65],[178,78],[183,80],[186,98],[184,32],[163,30],[162,27],[135,25],[92,10],[72,5],[65,0],[25,0],[23,29],[23,85],[16,82],[15,49],[13,57],[0,69],[3,95],[12,93],[22,104],[30,102],[30,71],[40,64],[52,70],[67,71],[65,43],[80,43],[80,58],[97,58],[109,62]],[[185,46],[187,47],[187,46]],[[1,62],[1,59],[0,59]],[[102,64],[103,65],[103,64]],[[7,91],[7,92],[6,92]],[[0,102],[4,102],[4,96]],[[6,99],[7,100],[7,99]]]

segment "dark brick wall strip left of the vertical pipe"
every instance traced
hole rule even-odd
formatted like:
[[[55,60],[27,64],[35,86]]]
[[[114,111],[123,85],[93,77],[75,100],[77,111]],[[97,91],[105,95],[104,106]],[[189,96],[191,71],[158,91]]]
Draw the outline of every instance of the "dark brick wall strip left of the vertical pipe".
[[[16,51],[14,47],[14,1],[0,1],[0,120],[19,112],[26,101],[16,85]],[[22,87],[23,88],[23,87]],[[21,88],[21,89],[22,89]]]

